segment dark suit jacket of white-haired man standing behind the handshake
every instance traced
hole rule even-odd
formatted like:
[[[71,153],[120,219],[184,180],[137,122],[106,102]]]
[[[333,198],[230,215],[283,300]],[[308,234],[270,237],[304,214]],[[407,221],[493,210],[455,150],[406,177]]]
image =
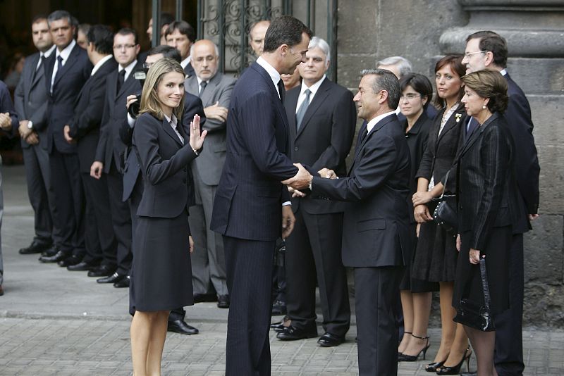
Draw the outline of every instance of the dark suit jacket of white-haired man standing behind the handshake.
[[[295,111],[300,91],[301,85],[289,90],[284,101],[290,123],[292,161],[307,163],[315,171],[331,168],[337,175],[345,176],[345,158],[356,130],[357,111],[353,93],[325,78],[307,106],[300,131],[297,132]],[[292,199],[293,211],[300,207],[312,214],[338,213],[345,210],[345,203],[308,194],[303,199]]]

